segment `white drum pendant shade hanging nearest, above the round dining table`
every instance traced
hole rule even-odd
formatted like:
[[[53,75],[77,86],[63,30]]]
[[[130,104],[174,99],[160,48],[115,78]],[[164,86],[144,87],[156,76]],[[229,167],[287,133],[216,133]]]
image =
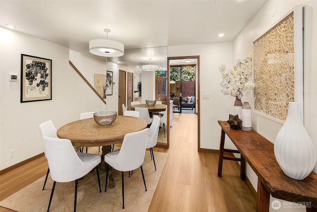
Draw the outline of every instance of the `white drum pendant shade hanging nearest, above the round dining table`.
[[[89,52],[102,57],[121,57],[124,45],[109,39],[93,39],[89,41]]]

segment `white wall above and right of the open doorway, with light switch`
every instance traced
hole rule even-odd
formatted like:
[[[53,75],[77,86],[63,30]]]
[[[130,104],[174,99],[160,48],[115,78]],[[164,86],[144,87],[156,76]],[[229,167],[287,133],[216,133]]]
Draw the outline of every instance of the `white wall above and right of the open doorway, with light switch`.
[[[219,149],[221,128],[217,121],[228,120],[235,101],[234,97],[224,96],[220,92],[222,78],[219,66],[232,66],[232,42],[169,46],[167,55],[200,56],[200,147]],[[203,93],[209,93],[210,99],[202,99]],[[229,141],[226,141],[226,147],[230,145]]]

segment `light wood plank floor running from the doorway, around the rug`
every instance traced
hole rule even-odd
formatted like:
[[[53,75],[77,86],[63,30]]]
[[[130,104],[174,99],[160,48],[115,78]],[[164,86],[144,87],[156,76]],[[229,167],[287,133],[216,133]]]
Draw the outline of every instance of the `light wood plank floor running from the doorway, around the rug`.
[[[218,154],[197,152],[197,115],[174,114],[170,134],[169,149],[154,148],[169,156],[149,212],[256,211],[256,197],[240,180],[238,163],[225,160],[217,177]],[[2,174],[0,201],[44,176],[47,168],[43,156]]]

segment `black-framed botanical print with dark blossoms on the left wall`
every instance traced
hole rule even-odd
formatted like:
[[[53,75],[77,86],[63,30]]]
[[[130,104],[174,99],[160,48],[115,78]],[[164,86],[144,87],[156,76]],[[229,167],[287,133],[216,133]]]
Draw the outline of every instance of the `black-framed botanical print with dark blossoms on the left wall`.
[[[52,60],[21,54],[21,102],[52,100]]]

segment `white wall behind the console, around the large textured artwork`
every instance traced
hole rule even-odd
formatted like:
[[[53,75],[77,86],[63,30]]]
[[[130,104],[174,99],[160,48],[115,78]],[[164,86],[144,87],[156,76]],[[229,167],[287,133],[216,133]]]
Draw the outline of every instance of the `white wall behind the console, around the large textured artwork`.
[[[315,143],[317,152],[317,1],[316,0],[269,0],[257,13],[252,21],[245,26],[233,42],[233,59],[243,59],[253,51],[253,41],[259,38],[269,28],[274,26],[281,17],[289,13],[296,5],[304,6],[304,125]],[[248,95],[244,101],[253,106],[253,95]],[[271,119],[253,113],[253,128],[267,140],[274,142],[282,127]],[[317,165],[314,172],[317,172]],[[257,189],[257,176],[247,166],[247,175],[255,189]],[[274,198],[271,198],[271,201]],[[270,209],[270,211],[274,211]],[[305,209],[283,209],[279,211],[305,211]]]

